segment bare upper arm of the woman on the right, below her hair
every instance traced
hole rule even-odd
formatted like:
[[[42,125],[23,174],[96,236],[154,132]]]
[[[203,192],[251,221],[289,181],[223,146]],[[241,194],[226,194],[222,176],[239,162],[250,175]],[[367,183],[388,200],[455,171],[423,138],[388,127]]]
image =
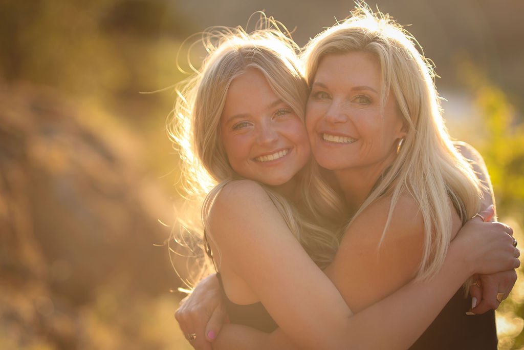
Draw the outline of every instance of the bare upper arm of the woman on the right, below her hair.
[[[386,226],[391,203],[391,197],[379,198],[355,217],[326,269],[355,312],[406,284],[422,259],[424,221],[417,201],[401,194]]]

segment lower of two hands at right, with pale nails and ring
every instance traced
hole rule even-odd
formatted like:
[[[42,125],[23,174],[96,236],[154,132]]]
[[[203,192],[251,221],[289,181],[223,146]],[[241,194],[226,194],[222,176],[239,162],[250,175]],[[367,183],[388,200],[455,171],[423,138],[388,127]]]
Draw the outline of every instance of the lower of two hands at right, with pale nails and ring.
[[[516,281],[515,270],[479,275],[477,283],[480,286],[472,284],[470,289],[470,295],[477,300],[476,307],[473,307],[470,312],[483,314],[488,310],[497,309],[500,305],[497,293],[505,293],[504,299],[506,299]]]

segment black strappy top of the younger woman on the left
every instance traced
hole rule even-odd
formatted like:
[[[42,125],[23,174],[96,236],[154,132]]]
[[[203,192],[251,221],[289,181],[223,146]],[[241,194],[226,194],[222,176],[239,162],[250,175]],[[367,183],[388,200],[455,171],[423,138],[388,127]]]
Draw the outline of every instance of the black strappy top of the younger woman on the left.
[[[222,289],[222,295],[226,303],[227,315],[231,323],[242,324],[265,333],[271,333],[278,328],[278,325],[261,302],[247,305],[233,303],[227,298],[220,272],[216,273],[216,277],[220,282],[220,288]]]

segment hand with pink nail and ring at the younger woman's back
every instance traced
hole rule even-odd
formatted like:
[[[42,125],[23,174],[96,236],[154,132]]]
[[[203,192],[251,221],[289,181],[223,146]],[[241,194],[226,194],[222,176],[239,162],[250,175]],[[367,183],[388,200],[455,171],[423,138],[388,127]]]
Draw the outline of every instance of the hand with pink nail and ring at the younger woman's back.
[[[189,342],[191,346],[202,350],[212,349],[211,342],[219,334],[225,316],[219,281],[214,273],[196,285],[174,314],[186,337],[196,334],[196,339]]]

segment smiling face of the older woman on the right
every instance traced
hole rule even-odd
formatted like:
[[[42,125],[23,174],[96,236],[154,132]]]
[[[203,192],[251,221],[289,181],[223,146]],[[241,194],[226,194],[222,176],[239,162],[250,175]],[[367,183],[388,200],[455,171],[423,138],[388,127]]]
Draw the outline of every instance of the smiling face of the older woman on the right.
[[[385,167],[405,132],[395,99],[380,106],[380,65],[365,52],[325,56],[306,110],[311,150],[332,170]]]

